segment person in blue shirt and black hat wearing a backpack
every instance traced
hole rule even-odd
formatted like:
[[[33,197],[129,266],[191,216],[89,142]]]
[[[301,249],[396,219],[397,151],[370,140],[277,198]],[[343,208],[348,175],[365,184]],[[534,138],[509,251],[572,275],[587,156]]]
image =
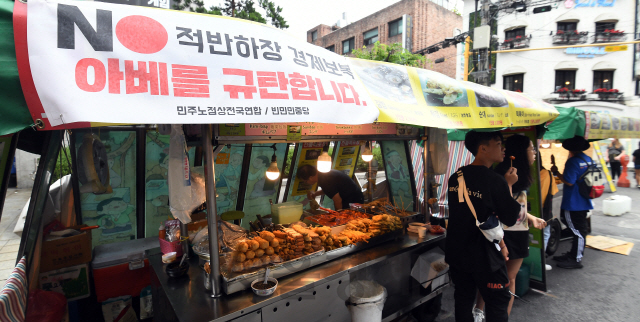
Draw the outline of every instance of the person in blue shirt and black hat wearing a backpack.
[[[564,173],[558,171],[555,165],[551,167],[551,172],[564,183],[562,191],[562,219],[573,232],[571,250],[563,255],[553,256],[560,268],[582,268],[582,258],[587,240],[587,212],[593,209],[591,198],[598,197],[594,190],[600,189],[601,181],[594,181],[591,176],[602,175],[597,169],[595,162],[583,151],[589,149],[590,145],[582,136],[574,136],[562,142],[562,147],[569,150],[569,159],[564,166]],[[589,175],[589,178],[586,178]],[[604,189],[604,186],[602,186]],[[582,191],[581,191],[582,190]],[[599,191],[602,194],[602,191]],[[586,194],[586,196],[585,196]]]

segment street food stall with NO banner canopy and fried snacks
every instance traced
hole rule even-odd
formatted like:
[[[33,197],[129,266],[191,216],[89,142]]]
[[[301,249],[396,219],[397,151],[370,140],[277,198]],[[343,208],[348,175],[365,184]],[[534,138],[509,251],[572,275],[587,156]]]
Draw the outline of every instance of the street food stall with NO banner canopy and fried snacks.
[[[386,288],[383,320],[401,316],[447,285],[423,285],[411,271],[444,235],[405,231],[428,219],[429,162],[443,163],[430,158],[443,155],[431,128],[534,125],[557,115],[521,94],[338,56],[238,19],[79,1],[16,2],[13,10],[20,83],[38,129],[31,141],[41,153],[19,252],[29,287],[38,287],[51,175],[68,148],[70,209],[75,224],[98,226],[90,231],[94,259],[102,246],[158,241],[167,215],[180,221],[186,238],[196,215],[206,213],[198,234],[211,238],[202,242],[196,234],[193,247],[180,239],[183,248],[174,249],[195,254],[186,274],[170,277],[156,247],[137,259],[149,271],[156,320],[345,320],[356,280]],[[387,181],[381,212],[356,205],[367,218],[352,216],[338,225],[342,232],[315,220],[320,227],[248,233],[254,218],[264,225],[261,216],[272,213],[270,199],[276,207],[304,203],[316,189],[295,177],[298,166],[319,166],[332,147],[331,167],[353,177],[358,157],[370,148],[363,142],[371,141],[381,147]],[[421,162],[412,162],[410,146],[423,147]],[[187,183],[202,189],[188,188],[182,202]],[[191,197],[206,208],[192,209]],[[330,208],[328,200],[322,204]],[[234,211],[243,214],[226,220]],[[236,235],[234,243],[227,239]],[[267,268],[277,288],[259,297],[250,284]]]

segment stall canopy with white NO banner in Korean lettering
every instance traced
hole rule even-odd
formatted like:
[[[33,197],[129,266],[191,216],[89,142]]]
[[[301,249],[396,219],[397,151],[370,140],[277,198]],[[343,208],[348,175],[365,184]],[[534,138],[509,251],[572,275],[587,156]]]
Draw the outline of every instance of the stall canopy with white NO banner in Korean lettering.
[[[13,2],[1,1],[3,22],[9,23]],[[3,127],[5,132],[34,122],[45,130],[116,123],[374,121],[501,128],[541,124],[558,115],[553,106],[526,95],[340,56],[246,20],[93,1],[30,0],[15,2],[13,9],[24,96],[1,89],[3,98],[15,99],[19,120]],[[81,23],[88,19],[83,15],[97,10],[111,12],[111,21],[99,16],[97,29],[88,30],[93,27]],[[212,30],[220,34],[203,43],[208,38],[198,33]],[[100,35],[85,38],[90,32]],[[13,41],[13,35],[3,39]],[[16,57],[5,60],[12,64],[9,80],[15,86]],[[3,115],[8,110],[1,109]]]

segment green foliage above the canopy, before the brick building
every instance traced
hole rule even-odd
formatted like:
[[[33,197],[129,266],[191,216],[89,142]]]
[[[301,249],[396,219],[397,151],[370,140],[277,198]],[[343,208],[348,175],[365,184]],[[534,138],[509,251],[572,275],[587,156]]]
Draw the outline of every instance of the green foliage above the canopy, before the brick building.
[[[354,49],[352,53],[356,58],[360,59],[384,61],[411,67],[423,67],[425,62],[427,62],[426,57],[402,48],[402,44],[400,43],[385,45],[376,41],[371,49],[367,49],[367,47],[364,46],[362,49]]]

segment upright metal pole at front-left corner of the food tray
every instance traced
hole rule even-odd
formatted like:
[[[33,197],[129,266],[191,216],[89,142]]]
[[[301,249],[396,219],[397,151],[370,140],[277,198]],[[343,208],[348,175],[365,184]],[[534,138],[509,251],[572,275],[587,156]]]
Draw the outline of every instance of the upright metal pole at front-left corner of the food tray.
[[[218,213],[216,211],[216,178],[213,158],[213,129],[202,125],[202,148],[205,158],[205,186],[207,189],[207,223],[209,229],[209,257],[211,264],[211,297],[222,295],[220,290],[220,257],[218,255]]]

